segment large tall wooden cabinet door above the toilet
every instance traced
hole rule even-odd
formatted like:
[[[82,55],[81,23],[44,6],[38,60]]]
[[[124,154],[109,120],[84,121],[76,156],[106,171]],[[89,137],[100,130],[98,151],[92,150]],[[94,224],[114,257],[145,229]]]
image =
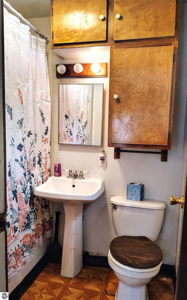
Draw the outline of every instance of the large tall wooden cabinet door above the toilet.
[[[110,55],[108,145],[117,147],[115,144],[121,144],[125,147],[125,144],[136,144],[136,148],[143,148],[138,145],[166,146],[173,46],[111,47]],[[113,95],[118,95],[118,98],[114,99]]]

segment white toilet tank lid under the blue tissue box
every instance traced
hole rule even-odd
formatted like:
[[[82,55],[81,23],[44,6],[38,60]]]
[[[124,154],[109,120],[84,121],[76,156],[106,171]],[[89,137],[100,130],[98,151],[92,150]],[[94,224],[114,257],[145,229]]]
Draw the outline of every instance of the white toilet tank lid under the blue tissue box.
[[[127,200],[126,196],[114,196],[110,198],[110,202],[116,205],[131,206],[149,209],[164,209],[166,205],[164,202],[155,199],[143,198],[141,201]]]

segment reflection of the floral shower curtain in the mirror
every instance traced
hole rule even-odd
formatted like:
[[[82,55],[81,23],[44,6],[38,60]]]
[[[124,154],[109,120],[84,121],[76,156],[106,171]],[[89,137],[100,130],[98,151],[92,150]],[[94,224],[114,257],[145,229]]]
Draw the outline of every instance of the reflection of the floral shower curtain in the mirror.
[[[89,145],[89,84],[59,84],[59,141]]]

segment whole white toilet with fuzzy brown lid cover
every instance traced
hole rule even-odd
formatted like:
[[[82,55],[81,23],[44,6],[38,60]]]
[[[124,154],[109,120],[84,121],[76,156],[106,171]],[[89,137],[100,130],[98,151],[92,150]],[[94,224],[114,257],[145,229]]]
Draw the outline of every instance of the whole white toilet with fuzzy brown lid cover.
[[[119,284],[115,300],[149,300],[146,284],[158,274],[163,254],[155,241],[165,203],[154,199],[110,198],[113,226],[118,237],[110,243],[108,262]]]

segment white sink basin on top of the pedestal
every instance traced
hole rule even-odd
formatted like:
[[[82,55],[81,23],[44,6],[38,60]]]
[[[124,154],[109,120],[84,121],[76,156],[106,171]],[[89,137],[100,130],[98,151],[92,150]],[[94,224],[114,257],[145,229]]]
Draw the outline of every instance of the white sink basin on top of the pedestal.
[[[103,192],[101,178],[71,179],[67,176],[51,176],[34,190],[36,196],[70,205],[92,202]]]

